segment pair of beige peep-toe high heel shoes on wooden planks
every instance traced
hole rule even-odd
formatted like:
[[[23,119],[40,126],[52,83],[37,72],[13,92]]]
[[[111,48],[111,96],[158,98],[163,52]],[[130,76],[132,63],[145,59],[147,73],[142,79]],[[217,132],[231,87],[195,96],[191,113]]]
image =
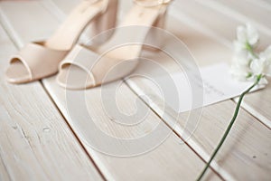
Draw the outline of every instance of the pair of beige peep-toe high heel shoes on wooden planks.
[[[162,27],[166,8],[171,1],[134,0],[134,6],[119,27]],[[26,83],[58,72],[57,82],[62,87],[79,90],[125,77],[135,69],[135,62],[120,66],[105,81],[107,72],[119,62],[135,59],[141,52],[142,45],[127,43],[126,46],[115,48],[101,56],[98,51],[76,44],[79,35],[88,25],[93,36],[115,27],[117,3],[117,0],[83,0],[50,39],[46,42],[29,43],[12,57],[6,71],[7,81]],[[135,33],[137,32],[128,35],[135,36]],[[147,35],[147,31],[138,33],[144,38]],[[106,37],[107,43],[103,46],[109,47],[109,44],[114,44],[123,35],[122,28],[117,28],[110,39]]]

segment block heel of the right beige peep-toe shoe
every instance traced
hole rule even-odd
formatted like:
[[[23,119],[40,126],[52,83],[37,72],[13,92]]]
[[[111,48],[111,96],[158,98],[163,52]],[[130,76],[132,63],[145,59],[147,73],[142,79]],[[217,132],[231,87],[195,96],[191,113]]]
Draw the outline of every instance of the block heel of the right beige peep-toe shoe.
[[[151,43],[150,45],[144,45],[143,48],[150,52],[159,52],[164,46],[164,37],[161,36],[160,31],[155,31],[155,28],[164,29],[166,21],[167,10],[160,14],[153,24],[154,29],[151,29],[146,36],[146,42]],[[152,46],[154,45],[154,46]],[[157,48],[156,48],[157,47]]]

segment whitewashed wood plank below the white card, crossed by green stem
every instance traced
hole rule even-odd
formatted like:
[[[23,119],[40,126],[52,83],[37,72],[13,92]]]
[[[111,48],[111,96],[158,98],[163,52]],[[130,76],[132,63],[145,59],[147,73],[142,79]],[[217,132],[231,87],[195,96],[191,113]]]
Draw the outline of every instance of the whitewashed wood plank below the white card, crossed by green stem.
[[[146,84],[142,80],[135,79],[132,82],[129,85],[138,94],[154,93],[150,89],[145,89]],[[138,90],[142,90],[142,92]],[[166,122],[180,136],[183,136],[184,129],[187,129],[185,124],[189,114],[182,113],[178,125],[175,125],[175,119],[178,118],[177,113],[170,108],[164,110],[161,102],[156,102],[155,105],[152,108],[158,114],[162,116],[166,111],[170,115],[165,119]],[[205,160],[209,159],[210,153],[218,145],[229,124],[234,108],[235,104],[230,100],[204,108],[201,121],[187,143]],[[192,132],[192,129],[190,131]],[[215,161],[212,162],[212,167],[226,180],[268,180],[271,169],[271,144],[268,141],[270,138],[270,129],[260,124],[248,112],[240,110],[238,120]],[[249,167],[246,167],[248,165]]]

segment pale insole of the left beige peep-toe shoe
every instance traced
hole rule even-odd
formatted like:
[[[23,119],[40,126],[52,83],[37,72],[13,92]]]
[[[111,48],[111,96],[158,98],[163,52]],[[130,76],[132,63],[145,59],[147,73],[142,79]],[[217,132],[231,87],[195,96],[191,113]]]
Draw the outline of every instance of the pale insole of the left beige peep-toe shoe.
[[[98,16],[103,8],[103,1],[94,4],[91,1],[82,1],[44,43],[44,46],[54,50],[69,51],[78,41],[80,33],[89,21]],[[6,78],[10,82],[24,83],[31,80],[30,76],[30,72],[19,59],[14,60],[6,71]]]

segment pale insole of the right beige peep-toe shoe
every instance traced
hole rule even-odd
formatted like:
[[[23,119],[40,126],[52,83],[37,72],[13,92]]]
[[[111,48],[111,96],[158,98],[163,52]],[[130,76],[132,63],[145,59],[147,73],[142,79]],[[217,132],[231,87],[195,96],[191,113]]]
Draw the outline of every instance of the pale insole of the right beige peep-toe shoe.
[[[137,58],[142,49],[142,44],[140,43],[144,43],[149,28],[155,23],[159,14],[161,14],[161,8],[165,8],[165,6],[152,8],[139,5],[133,6],[126,15],[123,23],[116,28],[110,40],[98,49],[98,53],[104,53],[116,45],[126,44],[105,54],[105,56],[111,58],[111,62],[101,62],[100,71],[107,69],[106,67],[110,64],[117,64],[117,62],[123,60],[135,60],[135,58]],[[129,44],[134,42],[139,44]],[[99,62],[97,64],[99,64]],[[67,82],[68,79],[69,82]],[[89,85],[93,83],[87,71],[72,64],[62,68],[58,80],[62,86],[69,89],[89,88]]]

